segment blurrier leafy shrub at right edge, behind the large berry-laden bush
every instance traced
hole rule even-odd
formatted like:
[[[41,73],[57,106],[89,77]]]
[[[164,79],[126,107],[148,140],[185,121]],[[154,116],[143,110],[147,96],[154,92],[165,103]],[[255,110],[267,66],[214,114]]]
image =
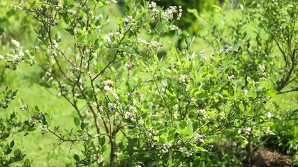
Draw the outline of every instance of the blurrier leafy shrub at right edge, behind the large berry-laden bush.
[[[297,8],[298,3],[294,1],[240,4],[239,9],[229,8],[228,12],[216,14],[209,22],[211,29],[207,34],[211,35],[204,36],[217,52],[230,52],[234,63],[228,71],[244,79],[242,88],[246,88],[250,79],[271,78],[276,81],[272,87],[277,90],[276,93],[295,92],[298,81],[298,27],[294,22],[298,16]],[[276,137],[283,138],[274,142],[276,148],[278,143],[284,145],[286,140],[290,147],[283,149],[288,153],[296,152],[297,129],[288,127],[293,127],[292,120],[297,117],[297,111],[285,111],[274,106],[271,109],[274,118],[277,118],[274,120],[274,129],[278,132]]]

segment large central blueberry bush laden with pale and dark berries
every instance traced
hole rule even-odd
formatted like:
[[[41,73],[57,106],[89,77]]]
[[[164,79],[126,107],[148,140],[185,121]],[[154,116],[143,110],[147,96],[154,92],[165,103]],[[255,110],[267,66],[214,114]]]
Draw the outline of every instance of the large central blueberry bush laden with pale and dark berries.
[[[232,17],[237,22],[228,40],[218,36],[227,26],[210,24],[207,41],[214,54],[205,56],[191,35],[179,49],[163,40],[179,30],[181,6],[128,0],[125,15],[110,17],[104,11],[116,2],[21,0],[13,6],[36,22],[36,35],[26,49],[12,39],[0,58],[10,70],[22,63],[38,67],[36,81],[72,106],[73,128],[66,129],[53,125],[43,104],[19,100],[32,128],[52,134],[59,145],[81,146],[71,151],[73,166],[236,166],[249,159],[255,138],[274,134],[271,113],[284,76],[270,65],[274,57],[266,51],[272,51],[267,50],[272,38],[260,38],[262,31],[255,42],[247,40],[252,37],[243,26],[253,22],[251,8],[243,9],[243,18]],[[260,47],[251,49],[255,43]],[[235,152],[246,149],[246,157],[215,161],[214,145],[221,142],[235,143]]]

